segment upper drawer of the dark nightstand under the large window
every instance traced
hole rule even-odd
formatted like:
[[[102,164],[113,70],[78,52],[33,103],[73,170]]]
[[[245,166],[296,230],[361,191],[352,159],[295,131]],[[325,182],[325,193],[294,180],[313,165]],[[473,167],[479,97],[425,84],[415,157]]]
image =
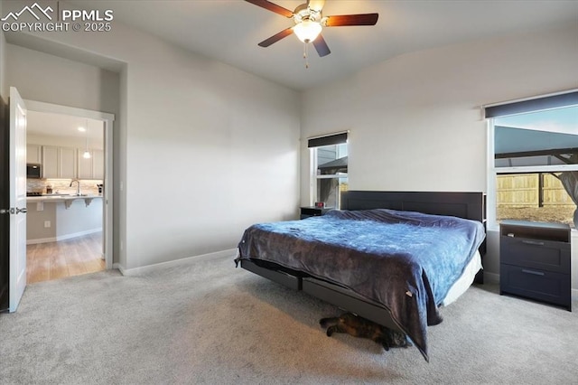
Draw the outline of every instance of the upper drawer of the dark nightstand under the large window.
[[[570,243],[502,237],[500,261],[555,273],[570,271]]]

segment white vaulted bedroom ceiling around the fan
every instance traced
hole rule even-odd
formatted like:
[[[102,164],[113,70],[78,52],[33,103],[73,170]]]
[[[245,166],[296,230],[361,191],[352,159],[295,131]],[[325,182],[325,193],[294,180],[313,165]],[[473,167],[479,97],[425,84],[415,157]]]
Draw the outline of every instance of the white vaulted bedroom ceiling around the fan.
[[[82,9],[111,9],[113,28],[114,23],[126,23],[292,89],[338,81],[406,52],[578,23],[575,0],[327,0],[323,15],[378,13],[378,23],[325,28],[323,37],[331,54],[319,58],[311,49],[310,65],[305,69],[303,43],[295,36],[268,48],[257,46],[258,42],[294,25],[293,21],[245,1],[67,3]],[[303,0],[274,3],[293,11]]]

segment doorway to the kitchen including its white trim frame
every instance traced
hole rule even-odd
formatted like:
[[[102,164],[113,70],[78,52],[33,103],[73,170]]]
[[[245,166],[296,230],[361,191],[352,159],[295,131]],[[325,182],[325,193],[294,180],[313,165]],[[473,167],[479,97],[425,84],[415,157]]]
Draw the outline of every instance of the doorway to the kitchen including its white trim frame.
[[[34,155],[41,156],[39,163],[51,173],[44,174],[49,177],[43,178],[42,182],[27,183],[30,186],[27,191],[43,194],[41,198],[30,197],[27,200],[29,207],[32,203],[33,210],[41,209],[41,215],[34,221],[36,230],[40,229],[40,232],[36,233],[26,253],[30,283],[112,268],[114,115],[34,100],[25,100],[25,103],[29,124],[32,123],[27,136],[33,138],[27,144],[30,145],[27,150],[33,152],[32,159]],[[51,126],[49,117],[58,123]],[[43,124],[37,125],[36,119]],[[61,131],[67,127],[66,121],[70,122],[68,129],[74,132],[69,134],[69,138],[64,138],[66,135]],[[38,126],[42,126],[45,132]],[[79,132],[79,127],[85,131]],[[50,160],[44,149],[47,155],[51,155]],[[67,156],[75,161],[73,167],[70,162],[63,163]],[[27,161],[31,159],[27,158]],[[47,167],[51,169],[46,170]],[[46,190],[49,186],[51,195]],[[46,200],[43,198],[56,202],[44,204],[42,202]],[[28,215],[29,222],[33,222],[33,210]],[[86,216],[89,212],[91,214]],[[45,219],[51,214],[55,215],[53,221]],[[42,215],[46,217],[42,218]],[[78,219],[75,215],[84,217]],[[59,228],[52,229],[51,236],[42,238],[38,235],[52,226]]]

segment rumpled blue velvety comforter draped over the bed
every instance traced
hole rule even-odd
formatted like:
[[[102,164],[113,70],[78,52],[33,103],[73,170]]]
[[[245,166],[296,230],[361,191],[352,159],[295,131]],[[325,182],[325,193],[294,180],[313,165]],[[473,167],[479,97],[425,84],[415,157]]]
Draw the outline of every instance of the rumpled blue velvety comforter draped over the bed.
[[[478,221],[387,209],[248,228],[239,258],[275,262],[387,307],[429,361],[427,325],[485,237]]]

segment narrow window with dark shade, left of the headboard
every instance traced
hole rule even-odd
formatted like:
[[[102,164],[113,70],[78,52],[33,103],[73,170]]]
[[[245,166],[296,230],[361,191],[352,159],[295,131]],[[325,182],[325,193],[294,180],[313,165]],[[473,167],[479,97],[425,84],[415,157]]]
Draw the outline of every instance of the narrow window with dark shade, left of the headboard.
[[[311,201],[340,208],[340,192],[348,190],[347,133],[311,138]]]

